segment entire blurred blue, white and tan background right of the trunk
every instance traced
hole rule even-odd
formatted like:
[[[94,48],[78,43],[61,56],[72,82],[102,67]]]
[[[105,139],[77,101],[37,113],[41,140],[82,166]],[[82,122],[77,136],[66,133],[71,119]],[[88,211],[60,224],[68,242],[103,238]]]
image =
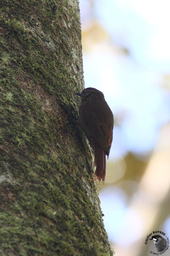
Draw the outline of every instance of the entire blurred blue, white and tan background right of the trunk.
[[[117,256],[150,255],[154,230],[170,237],[169,9],[166,0],[80,0],[85,87],[102,91],[114,114],[99,196]]]

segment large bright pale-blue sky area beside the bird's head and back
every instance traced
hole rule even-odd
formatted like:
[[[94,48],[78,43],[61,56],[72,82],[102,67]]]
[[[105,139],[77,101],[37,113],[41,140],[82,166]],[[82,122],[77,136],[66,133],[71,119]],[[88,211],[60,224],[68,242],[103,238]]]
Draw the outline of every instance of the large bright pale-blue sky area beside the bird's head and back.
[[[109,39],[83,51],[85,87],[101,90],[114,113],[110,156],[147,155],[170,120],[170,94],[161,87],[170,71],[170,2],[98,0],[92,8],[90,2],[80,1],[82,30],[96,19]],[[116,54],[115,45],[129,55]]]

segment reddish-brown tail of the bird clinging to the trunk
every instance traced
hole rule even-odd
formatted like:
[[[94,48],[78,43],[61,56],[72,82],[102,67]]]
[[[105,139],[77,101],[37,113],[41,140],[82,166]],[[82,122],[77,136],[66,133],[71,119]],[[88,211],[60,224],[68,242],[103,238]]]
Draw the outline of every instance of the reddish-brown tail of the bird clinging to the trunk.
[[[97,144],[97,143],[96,143]],[[96,166],[96,170],[92,176],[92,182],[94,180],[102,180],[104,183],[106,176],[106,153],[100,148],[97,144],[94,149],[94,164]]]

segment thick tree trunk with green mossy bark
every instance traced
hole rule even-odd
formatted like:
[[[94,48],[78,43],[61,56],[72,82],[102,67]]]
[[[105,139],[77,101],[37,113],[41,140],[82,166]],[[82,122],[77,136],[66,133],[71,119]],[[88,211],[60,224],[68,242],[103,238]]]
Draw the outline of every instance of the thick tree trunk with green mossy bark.
[[[77,0],[0,1],[0,255],[112,255],[92,154]]]

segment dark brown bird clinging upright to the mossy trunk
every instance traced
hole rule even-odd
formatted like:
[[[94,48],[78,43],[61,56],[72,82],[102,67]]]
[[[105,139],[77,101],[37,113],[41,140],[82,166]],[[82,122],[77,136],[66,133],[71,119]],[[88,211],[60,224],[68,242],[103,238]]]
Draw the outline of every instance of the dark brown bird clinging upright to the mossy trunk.
[[[102,92],[95,88],[86,88],[81,93],[79,108],[80,125],[94,151],[96,170],[94,178],[104,183],[107,159],[113,139],[113,113]]]

